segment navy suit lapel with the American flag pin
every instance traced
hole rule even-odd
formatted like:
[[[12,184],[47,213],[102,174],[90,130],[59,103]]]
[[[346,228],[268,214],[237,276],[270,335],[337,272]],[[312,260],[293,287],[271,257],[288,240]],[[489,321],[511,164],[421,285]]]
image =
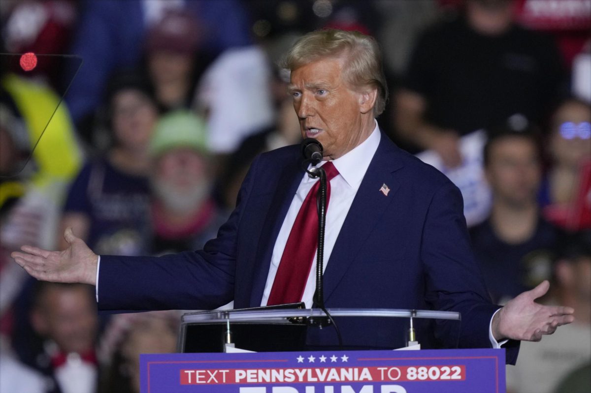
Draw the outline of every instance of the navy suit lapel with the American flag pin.
[[[372,229],[396,198],[400,184],[395,179],[394,172],[402,168],[398,150],[382,134],[378,149],[363,176],[324,271],[324,300],[330,298]],[[389,187],[388,195],[380,191],[382,184]]]

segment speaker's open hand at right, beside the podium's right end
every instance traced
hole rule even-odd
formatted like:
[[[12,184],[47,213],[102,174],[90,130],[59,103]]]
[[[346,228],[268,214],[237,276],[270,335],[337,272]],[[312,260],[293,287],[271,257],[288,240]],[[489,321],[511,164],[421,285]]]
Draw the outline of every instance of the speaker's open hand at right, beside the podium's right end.
[[[574,309],[565,306],[543,306],[534,300],[544,296],[550,283],[547,280],[532,290],[509,300],[492,319],[492,334],[497,341],[505,339],[540,341],[551,335],[558,326],[574,320]]]

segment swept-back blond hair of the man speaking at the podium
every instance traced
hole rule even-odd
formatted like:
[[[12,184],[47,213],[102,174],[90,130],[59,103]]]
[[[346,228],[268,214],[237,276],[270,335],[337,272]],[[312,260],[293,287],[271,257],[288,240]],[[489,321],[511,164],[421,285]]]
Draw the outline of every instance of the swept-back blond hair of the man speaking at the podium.
[[[388,100],[388,85],[382,68],[378,42],[358,31],[335,29],[317,30],[301,37],[287,53],[281,66],[294,71],[301,66],[325,57],[345,55],[343,73],[350,86],[375,87],[378,90],[374,116],[384,112]]]

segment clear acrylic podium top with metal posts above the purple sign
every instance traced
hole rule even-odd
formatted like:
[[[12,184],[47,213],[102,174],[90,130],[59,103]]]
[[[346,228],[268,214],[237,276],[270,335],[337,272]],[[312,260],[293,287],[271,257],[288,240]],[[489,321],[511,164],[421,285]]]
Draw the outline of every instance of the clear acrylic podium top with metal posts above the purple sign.
[[[413,321],[460,321],[460,313],[401,309],[327,309],[333,317],[388,317],[408,319],[409,345],[418,343]],[[226,344],[255,352],[301,351],[309,326],[326,319],[320,309],[216,310],[187,313],[181,320],[178,352],[224,352]]]

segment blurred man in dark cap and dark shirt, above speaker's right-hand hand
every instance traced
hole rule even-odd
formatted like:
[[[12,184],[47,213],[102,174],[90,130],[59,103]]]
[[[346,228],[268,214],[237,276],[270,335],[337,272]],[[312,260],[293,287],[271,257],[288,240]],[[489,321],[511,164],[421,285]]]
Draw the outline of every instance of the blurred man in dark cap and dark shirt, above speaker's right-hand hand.
[[[492,300],[503,304],[550,278],[558,232],[536,201],[541,165],[532,133],[498,132],[485,146],[484,163],[492,211],[470,235]]]

